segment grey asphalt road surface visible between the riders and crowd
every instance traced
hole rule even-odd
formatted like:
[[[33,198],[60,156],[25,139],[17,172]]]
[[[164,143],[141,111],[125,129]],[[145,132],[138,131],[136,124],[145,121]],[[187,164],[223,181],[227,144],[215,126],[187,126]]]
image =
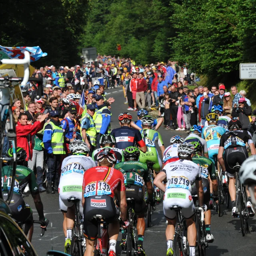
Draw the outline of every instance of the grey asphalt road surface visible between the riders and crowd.
[[[107,91],[108,96],[112,96],[116,101],[112,104],[111,112],[111,127],[119,127],[118,114],[126,110],[128,105],[124,104],[124,94],[121,88]],[[136,112],[131,113],[134,120],[137,120]],[[182,135],[186,137],[185,132],[176,132],[173,130],[158,130],[162,135],[165,146],[169,145],[170,138],[174,135]],[[58,194],[41,194],[42,202],[44,204],[45,216],[49,218],[52,223],[52,228],[47,228],[45,235],[40,237],[40,226],[34,226],[34,235],[32,244],[39,256],[45,256],[48,250],[52,247],[54,250],[64,251],[64,233],[62,229],[63,217],[59,208]],[[37,212],[31,196],[24,198],[33,209],[34,219],[38,218]],[[224,207],[223,207],[224,209]],[[162,203],[157,206],[156,212],[152,215],[152,227],[146,228],[144,236],[144,249],[147,256],[165,256],[166,255],[166,238],[165,238],[165,219],[163,216]],[[255,241],[256,241],[256,219],[249,219],[249,232],[245,237],[242,237],[240,229],[240,219],[232,218],[231,208],[223,210],[221,217],[212,211],[212,234],[215,241],[209,244],[206,251],[208,256],[237,256],[254,255]],[[119,244],[119,243],[118,243]],[[120,247],[117,244],[117,255],[120,253]]]

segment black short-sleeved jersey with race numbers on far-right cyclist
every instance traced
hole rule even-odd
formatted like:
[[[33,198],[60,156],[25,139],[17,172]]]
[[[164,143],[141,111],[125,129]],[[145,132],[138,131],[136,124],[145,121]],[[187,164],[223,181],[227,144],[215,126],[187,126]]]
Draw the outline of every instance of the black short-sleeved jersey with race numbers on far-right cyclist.
[[[220,146],[224,147],[224,150],[227,148],[245,147],[246,142],[248,144],[253,143],[250,132],[245,130],[229,131],[220,138]]]

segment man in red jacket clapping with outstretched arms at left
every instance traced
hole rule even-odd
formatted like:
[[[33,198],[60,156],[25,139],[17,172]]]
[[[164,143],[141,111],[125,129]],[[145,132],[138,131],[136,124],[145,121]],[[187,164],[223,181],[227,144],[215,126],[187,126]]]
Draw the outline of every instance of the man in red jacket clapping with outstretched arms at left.
[[[27,152],[26,161],[32,159],[32,136],[44,127],[44,120],[49,114],[38,116],[38,120],[34,124],[28,124],[28,116],[20,113],[16,126],[17,147],[24,148]]]

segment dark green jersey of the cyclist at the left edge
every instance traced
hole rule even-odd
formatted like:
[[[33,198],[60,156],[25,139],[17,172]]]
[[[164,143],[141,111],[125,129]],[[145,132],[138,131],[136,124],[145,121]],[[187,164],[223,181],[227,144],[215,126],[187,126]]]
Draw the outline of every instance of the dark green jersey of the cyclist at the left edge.
[[[2,191],[8,191],[12,183],[12,176],[10,176],[10,166],[4,166],[2,168]],[[39,193],[38,186],[36,183],[36,175],[28,167],[17,165],[16,175],[14,182],[14,193],[22,194],[27,184],[32,194]]]

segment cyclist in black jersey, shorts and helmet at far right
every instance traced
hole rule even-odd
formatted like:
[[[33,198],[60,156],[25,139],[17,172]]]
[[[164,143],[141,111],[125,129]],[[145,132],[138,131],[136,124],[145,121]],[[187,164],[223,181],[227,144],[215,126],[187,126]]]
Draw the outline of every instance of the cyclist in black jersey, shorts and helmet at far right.
[[[220,139],[218,162],[222,168],[222,171],[226,171],[227,175],[229,176],[228,190],[232,201],[232,216],[236,218],[238,217],[236,209],[236,173],[233,168],[236,166],[237,162],[239,165],[242,165],[246,158],[248,158],[246,143],[248,143],[250,146],[252,155],[255,155],[256,151],[251,134],[246,130],[242,130],[242,124],[239,120],[231,120],[228,123],[228,130],[229,132],[224,133]],[[254,209],[252,208],[250,195],[248,192],[247,194],[248,202],[246,206],[249,211],[249,216],[253,217]]]

